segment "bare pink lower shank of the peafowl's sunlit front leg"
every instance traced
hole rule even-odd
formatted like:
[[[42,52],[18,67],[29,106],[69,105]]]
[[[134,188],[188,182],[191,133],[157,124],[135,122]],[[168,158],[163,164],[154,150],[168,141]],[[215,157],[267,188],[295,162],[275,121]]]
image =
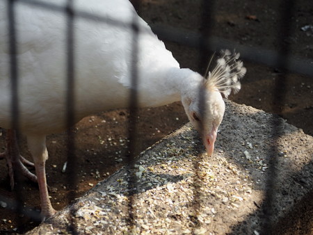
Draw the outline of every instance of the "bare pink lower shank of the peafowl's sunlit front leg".
[[[53,209],[49,200],[49,193],[47,188],[46,172],[45,172],[45,161],[42,163],[35,163],[36,175],[38,177],[38,186],[40,192],[41,202],[41,215],[45,220],[53,216],[56,211]]]

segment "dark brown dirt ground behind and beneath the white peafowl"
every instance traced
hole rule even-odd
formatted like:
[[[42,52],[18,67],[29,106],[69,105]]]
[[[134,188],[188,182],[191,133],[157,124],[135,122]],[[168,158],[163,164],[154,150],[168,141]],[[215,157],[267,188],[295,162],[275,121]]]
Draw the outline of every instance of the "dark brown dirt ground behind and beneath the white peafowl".
[[[200,32],[202,7],[199,0],[143,0],[138,13],[149,24],[172,26],[175,29]],[[284,1],[282,1],[284,2]],[[291,35],[281,42],[281,13],[284,5],[279,1],[216,1],[211,18],[210,33],[216,37],[232,40],[239,44],[275,50],[282,45],[288,47],[292,56],[303,58],[313,63],[313,3],[310,0],[296,1],[293,15],[290,15]],[[311,25],[312,29],[301,29]],[[199,71],[200,53],[197,49],[184,47],[172,42],[165,42],[182,67]],[[227,47],[227,45],[225,45]],[[209,58],[210,55],[208,55]],[[234,102],[246,104],[270,113],[278,113],[290,124],[313,135],[313,79],[300,74],[282,74],[274,67],[266,67],[244,61],[248,73],[242,81],[239,94],[230,97]],[[202,70],[202,69],[201,69]],[[203,69],[205,70],[205,68]],[[202,71],[199,71],[202,72]],[[280,100],[275,99],[275,82],[284,79]],[[68,184],[69,168],[62,173],[67,161],[66,134],[48,136],[47,181],[50,188],[51,202],[57,210],[70,203],[70,198],[83,195],[98,181],[108,177],[120,168],[127,156],[128,143],[127,110],[111,111],[84,118],[74,128],[75,165],[77,183],[74,189]],[[182,105],[170,104],[159,108],[145,108],[138,111],[136,152],[145,148],[174,131],[187,122]],[[5,149],[5,130],[0,129],[0,146]],[[24,138],[20,138],[22,154],[31,159],[26,149]],[[8,198],[22,197],[26,211],[40,209],[38,186],[26,179],[19,181],[20,191],[10,191],[6,164],[0,165],[0,195]],[[0,206],[0,233],[26,232],[38,225],[24,213],[15,213]],[[312,209],[307,209],[307,216],[313,218]],[[310,220],[311,223],[312,219]],[[300,232],[298,233],[300,234]]]

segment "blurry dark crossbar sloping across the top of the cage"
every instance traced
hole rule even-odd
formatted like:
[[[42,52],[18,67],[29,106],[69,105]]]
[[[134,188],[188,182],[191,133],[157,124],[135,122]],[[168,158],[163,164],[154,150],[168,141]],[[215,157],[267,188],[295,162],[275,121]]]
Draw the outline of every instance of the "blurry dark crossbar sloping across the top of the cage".
[[[37,0],[16,1],[40,8],[46,8],[47,10],[55,10],[60,12],[66,11],[63,6],[57,6],[55,3],[47,3]],[[125,24],[114,19],[103,17],[102,15],[94,15],[83,11],[75,10],[73,12],[73,15],[75,17],[82,17],[85,19],[103,22],[105,24],[111,24],[122,28],[129,29],[131,27],[131,23]],[[184,29],[172,28],[170,26],[151,25],[151,28],[152,31],[154,31],[154,33],[156,33],[161,40],[177,42],[179,44],[187,45],[188,47],[194,48],[199,48],[201,44],[200,40],[202,38],[202,35],[200,35],[200,33],[195,33]],[[144,33],[144,31],[141,30],[141,33]],[[280,53],[278,53],[278,51],[272,51],[270,49],[264,49],[260,47],[249,47],[224,38],[217,38],[212,35],[207,38],[207,42],[205,42],[205,44],[207,45],[207,50],[209,51],[218,51],[221,48],[235,48],[236,51],[240,51],[241,58],[245,60],[250,60],[255,63],[262,63],[271,67],[279,67],[281,69],[289,70],[290,72],[295,72],[298,74],[313,76],[313,61],[308,61],[305,58],[297,58],[288,55],[286,58],[286,63],[278,63],[280,58]]]

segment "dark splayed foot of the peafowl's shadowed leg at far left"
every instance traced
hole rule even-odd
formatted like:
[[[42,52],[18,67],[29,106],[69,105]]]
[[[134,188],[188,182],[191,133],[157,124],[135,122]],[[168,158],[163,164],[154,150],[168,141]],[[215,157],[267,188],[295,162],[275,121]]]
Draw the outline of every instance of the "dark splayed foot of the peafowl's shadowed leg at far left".
[[[15,153],[13,153],[15,154]],[[14,171],[15,172],[21,172],[24,177],[30,179],[31,181],[37,183],[37,177],[29,171],[28,168],[26,168],[25,165],[28,165],[30,167],[33,167],[34,164],[31,161],[28,161],[27,159],[24,159],[23,156],[12,156],[12,154],[9,154],[8,151],[3,152],[0,154],[0,159],[6,159],[6,164],[8,165],[8,175],[10,177],[10,186],[13,190],[14,188]]]

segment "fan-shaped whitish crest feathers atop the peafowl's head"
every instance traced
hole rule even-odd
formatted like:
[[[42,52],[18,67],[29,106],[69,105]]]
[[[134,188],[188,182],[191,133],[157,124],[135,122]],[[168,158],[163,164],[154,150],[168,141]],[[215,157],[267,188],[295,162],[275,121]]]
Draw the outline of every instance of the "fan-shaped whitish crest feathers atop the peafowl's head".
[[[243,62],[239,60],[239,56],[240,54],[235,51],[231,53],[228,49],[221,50],[220,56],[216,60],[216,67],[212,72],[208,74],[206,72],[204,76],[204,85],[209,90],[218,90],[226,98],[232,90],[234,93],[239,92],[241,88],[239,79],[242,79],[247,72],[246,67],[243,67]]]

